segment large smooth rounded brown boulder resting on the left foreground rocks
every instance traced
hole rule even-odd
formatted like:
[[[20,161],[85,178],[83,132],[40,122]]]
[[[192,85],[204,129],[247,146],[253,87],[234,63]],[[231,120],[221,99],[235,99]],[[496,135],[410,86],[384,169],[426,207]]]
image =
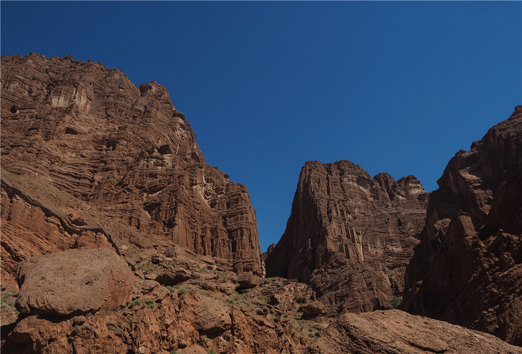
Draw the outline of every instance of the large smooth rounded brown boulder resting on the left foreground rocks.
[[[22,315],[66,316],[125,306],[134,276],[114,251],[96,248],[31,257],[18,264],[17,281]]]

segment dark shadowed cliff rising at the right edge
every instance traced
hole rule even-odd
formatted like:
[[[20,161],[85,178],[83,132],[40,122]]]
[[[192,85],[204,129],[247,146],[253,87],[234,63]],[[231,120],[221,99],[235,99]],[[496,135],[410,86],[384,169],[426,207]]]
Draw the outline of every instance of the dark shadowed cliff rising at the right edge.
[[[401,308],[522,345],[522,106],[437,183]]]

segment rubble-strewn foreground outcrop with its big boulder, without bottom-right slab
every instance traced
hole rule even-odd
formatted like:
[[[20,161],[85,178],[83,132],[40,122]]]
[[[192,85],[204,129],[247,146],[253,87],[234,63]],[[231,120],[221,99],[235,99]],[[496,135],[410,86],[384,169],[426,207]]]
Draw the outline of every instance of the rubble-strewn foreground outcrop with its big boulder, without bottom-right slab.
[[[235,273],[223,271],[210,260],[205,263],[203,256],[185,252],[166,257],[164,248],[153,250],[155,252],[147,250],[135,254],[139,259],[136,273],[145,275],[145,279],[136,278],[122,286],[104,283],[98,277],[92,286],[103,285],[100,299],[96,296],[79,298],[79,294],[87,295],[86,291],[82,292],[82,287],[87,286],[82,284],[87,275],[79,272],[81,265],[75,268],[72,255],[78,255],[78,262],[83,262],[85,257],[81,255],[103,254],[117,258],[113,263],[118,267],[122,262],[125,265],[123,258],[112,250],[66,250],[22,262],[20,276],[25,274],[25,279],[18,294],[14,295],[20,304],[31,299],[40,306],[27,307],[18,321],[2,326],[2,352],[168,354],[175,351],[207,354],[212,350],[238,354],[298,354],[328,325],[321,313],[302,318],[305,311],[302,308],[316,308],[315,294],[305,284],[267,278],[259,279],[252,288],[243,289]],[[92,263],[94,258],[88,258],[88,261]],[[35,271],[35,266],[41,263],[61,265],[55,270],[44,267],[45,279],[35,280],[32,271],[24,271],[29,270],[29,264]],[[105,264],[100,262],[100,265]],[[84,266],[92,269],[90,278],[97,276],[97,267],[87,263]],[[188,279],[173,286],[162,286],[147,279],[148,275],[161,276],[171,269],[184,267]],[[98,271],[106,269],[100,267]],[[125,271],[130,273],[128,268]],[[109,272],[106,273],[108,276]],[[48,286],[51,281],[54,287]],[[26,286],[28,284],[33,287]],[[44,286],[39,287],[42,284]],[[65,287],[60,287],[62,284]],[[76,291],[75,287],[80,289]],[[116,301],[120,298],[115,294],[118,289],[126,290],[126,301]],[[100,307],[107,290],[112,292]],[[5,301],[6,290],[3,291]],[[63,294],[63,303],[59,301],[58,291],[67,291]],[[52,292],[55,292],[54,297],[49,295]]]

